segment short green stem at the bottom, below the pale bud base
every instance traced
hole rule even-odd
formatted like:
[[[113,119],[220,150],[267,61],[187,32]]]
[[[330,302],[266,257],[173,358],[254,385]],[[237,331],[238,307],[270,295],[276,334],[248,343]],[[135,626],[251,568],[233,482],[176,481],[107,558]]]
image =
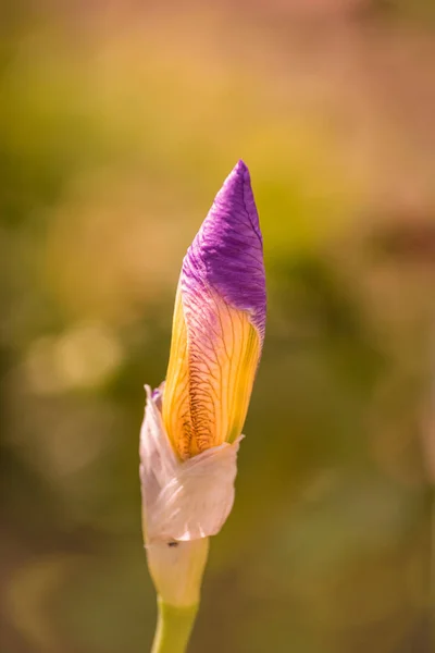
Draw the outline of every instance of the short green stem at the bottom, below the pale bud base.
[[[198,604],[181,607],[158,597],[158,623],[151,653],[185,653],[198,612]]]

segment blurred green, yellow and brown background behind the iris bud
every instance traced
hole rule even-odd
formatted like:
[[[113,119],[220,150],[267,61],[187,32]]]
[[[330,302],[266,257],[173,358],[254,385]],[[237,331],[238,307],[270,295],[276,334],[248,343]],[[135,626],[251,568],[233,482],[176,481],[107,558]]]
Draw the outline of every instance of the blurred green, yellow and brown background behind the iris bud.
[[[190,651],[433,651],[433,2],[0,11],[1,652],[149,650],[144,383],[240,157],[268,332]]]

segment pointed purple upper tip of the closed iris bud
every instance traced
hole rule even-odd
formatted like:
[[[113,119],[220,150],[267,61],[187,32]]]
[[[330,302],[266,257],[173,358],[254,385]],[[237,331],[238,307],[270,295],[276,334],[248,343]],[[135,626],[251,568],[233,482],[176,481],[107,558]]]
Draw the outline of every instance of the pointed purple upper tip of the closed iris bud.
[[[226,177],[183,262],[187,294],[214,288],[250,313],[261,337],[265,324],[263,244],[248,167],[240,159]]]

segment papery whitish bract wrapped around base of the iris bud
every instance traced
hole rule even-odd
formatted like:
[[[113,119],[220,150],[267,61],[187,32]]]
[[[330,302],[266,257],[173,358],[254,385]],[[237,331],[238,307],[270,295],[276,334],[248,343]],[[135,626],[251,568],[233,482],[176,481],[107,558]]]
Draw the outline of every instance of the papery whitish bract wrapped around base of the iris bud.
[[[233,507],[243,435],[179,460],[148,385],[146,391],[139,449],[146,545],[215,535]]]

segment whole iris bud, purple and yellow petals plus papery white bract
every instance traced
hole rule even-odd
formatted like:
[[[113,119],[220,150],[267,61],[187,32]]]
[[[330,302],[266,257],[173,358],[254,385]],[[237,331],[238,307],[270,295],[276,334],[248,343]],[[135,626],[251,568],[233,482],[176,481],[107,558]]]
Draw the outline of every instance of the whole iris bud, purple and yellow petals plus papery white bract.
[[[140,473],[148,543],[215,534],[229,514],[265,304],[259,217],[239,161],[183,261],[166,380],[147,389]]]

